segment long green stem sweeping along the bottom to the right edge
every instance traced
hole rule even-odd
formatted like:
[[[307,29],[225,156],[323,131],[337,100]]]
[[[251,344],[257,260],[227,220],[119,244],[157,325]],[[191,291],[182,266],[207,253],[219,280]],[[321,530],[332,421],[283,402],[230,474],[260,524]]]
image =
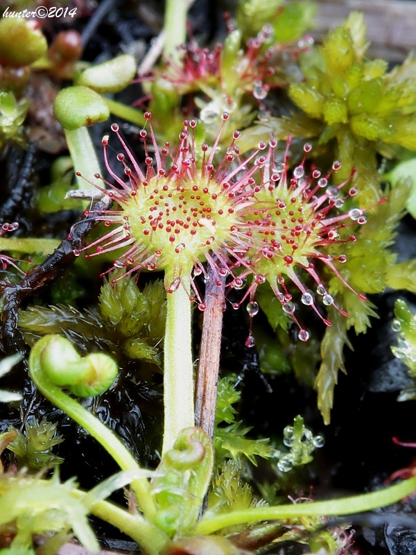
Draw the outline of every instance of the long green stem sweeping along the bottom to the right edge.
[[[234,524],[250,524],[251,522],[260,522],[261,520],[286,520],[287,518],[302,516],[333,516],[363,513],[397,503],[400,499],[412,495],[415,490],[416,477],[413,477],[389,488],[352,497],[343,497],[342,499],[232,511],[224,515],[203,518],[193,529],[193,533],[209,534],[229,526],[234,526]]]

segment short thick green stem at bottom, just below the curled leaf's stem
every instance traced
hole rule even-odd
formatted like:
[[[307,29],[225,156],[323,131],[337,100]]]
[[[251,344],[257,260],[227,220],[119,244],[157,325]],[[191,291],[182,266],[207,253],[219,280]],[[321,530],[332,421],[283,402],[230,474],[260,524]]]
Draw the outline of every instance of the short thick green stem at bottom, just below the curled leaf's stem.
[[[73,490],[76,497],[87,495],[81,490]],[[137,542],[148,555],[159,555],[169,538],[162,530],[150,524],[139,514],[128,513],[108,501],[92,504],[90,512],[101,520],[109,522]]]

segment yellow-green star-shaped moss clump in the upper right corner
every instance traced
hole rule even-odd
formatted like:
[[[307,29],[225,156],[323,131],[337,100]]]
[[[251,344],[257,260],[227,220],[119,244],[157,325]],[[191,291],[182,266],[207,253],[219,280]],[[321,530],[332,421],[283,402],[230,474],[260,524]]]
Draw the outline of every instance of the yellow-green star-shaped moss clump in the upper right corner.
[[[410,57],[387,72],[385,60],[366,60],[366,31],[363,15],[352,12],[304,56],[304,82],[291,85],[289,96],[312,125],[320,121],[318,142],[335,142],[339,182],[358,169],[354,180],[367,206],[381,196],[376,153],[391,155],[396,145],[416,150],[416,62]]]

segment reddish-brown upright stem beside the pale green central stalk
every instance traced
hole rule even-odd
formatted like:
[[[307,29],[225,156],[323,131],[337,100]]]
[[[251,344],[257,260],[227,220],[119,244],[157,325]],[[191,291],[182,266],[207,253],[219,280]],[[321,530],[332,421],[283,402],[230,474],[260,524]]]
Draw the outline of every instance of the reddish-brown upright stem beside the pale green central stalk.
[[[196,425],[212,440],[216,412],[218,372],[220,368],[221,331],[223,329],[223,305],[225,302],[225,278],[214,276],[208,269],[205,288],[205,311],[202,323],[200,359],[196,381]]]

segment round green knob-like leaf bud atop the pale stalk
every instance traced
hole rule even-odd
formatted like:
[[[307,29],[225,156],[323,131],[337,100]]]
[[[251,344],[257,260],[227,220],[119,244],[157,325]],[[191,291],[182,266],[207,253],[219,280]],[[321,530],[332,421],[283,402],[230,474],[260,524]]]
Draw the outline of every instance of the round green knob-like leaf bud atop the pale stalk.
[[[88,87],[67,87],[56,96],[53,113],[60,124],[68,130],[93,126],[110,117],[107,103]]]

